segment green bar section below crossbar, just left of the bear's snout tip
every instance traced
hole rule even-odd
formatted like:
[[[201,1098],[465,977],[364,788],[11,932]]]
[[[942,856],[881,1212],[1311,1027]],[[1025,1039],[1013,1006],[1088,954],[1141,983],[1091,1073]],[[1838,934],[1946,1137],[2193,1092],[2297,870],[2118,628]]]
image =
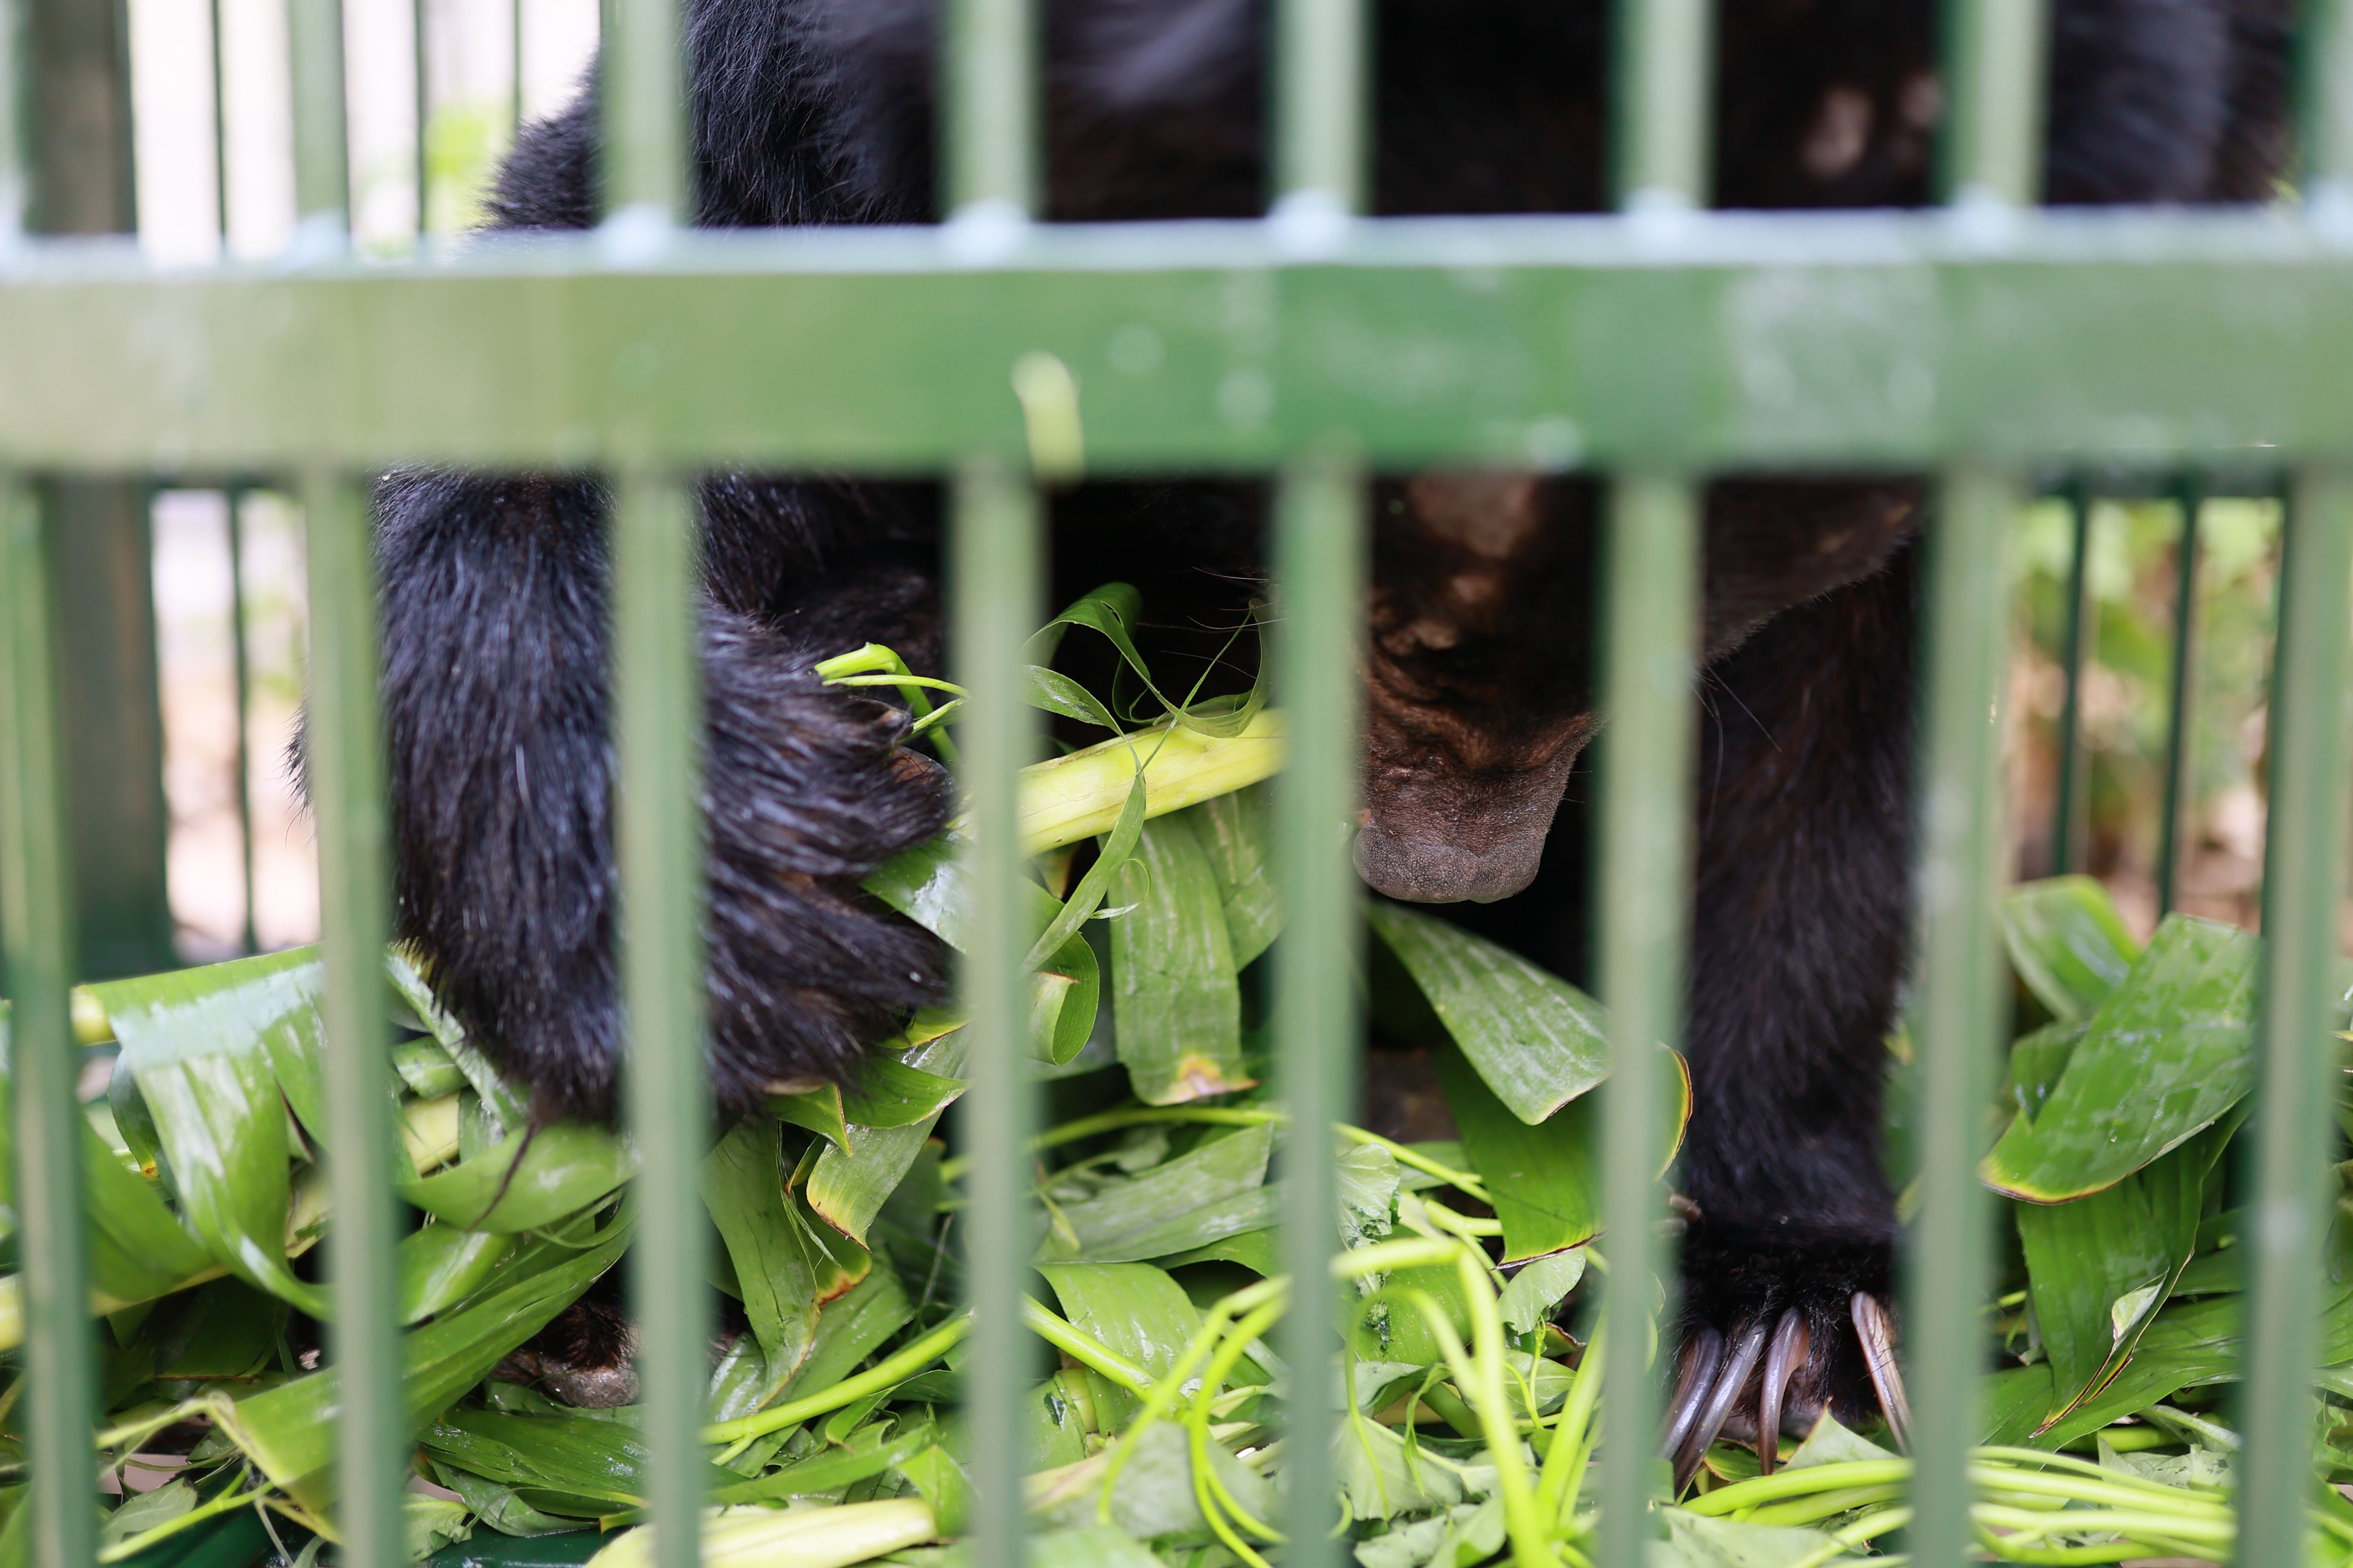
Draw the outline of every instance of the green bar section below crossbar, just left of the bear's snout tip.
[[[1282,1161],[1282,1267],[1292,1276],[1285,1359],[1294,1373],[1285,1441],[1287,1568],[1337,1561],[1332,1418],[1318,1401],[1332,1366],[1337,1295],[1329,1258],[1339,1194],[1334,1121],[1358,1100],[1358,945],[1365,898],[1348,858],[1360,799],[1358,710],[1365,635],[1365,477],[1353,458],[1311,454],[1282,470],[1275,508],[1280,637],[1275,679],[1289,759],[1275,788],[1275,875],[1287,912],[1275,957],[1275,1074],[1292,1114]]]

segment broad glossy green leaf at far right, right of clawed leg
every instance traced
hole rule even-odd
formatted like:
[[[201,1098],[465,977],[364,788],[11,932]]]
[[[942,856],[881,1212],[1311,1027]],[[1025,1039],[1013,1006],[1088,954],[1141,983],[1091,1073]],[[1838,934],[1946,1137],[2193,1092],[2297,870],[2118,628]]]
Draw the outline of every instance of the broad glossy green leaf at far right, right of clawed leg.
[[[1986,1185],[2061,1204],[2212,1126],[2252,1084],[2254,938],[2174,914],[2068,1056],[2042,1112],[2012,1121]]]

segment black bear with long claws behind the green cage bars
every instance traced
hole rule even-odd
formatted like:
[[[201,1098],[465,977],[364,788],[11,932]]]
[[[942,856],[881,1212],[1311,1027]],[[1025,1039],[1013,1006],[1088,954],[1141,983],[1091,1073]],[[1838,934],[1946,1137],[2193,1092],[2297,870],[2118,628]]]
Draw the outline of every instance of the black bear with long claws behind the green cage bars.
[[[1725,0],[1715,202],[1929,200],[1934,9]],[[1605,0],[1379,0],[1374,24],[1374,212],[1605,205]],[[1052,0],[1045,216],[1259,214],[1266,31],[1264,0]],[[939,216],[929,0],[689,0],[687,47],[699,223]],[[2285,71],[2282,0],[2059,0],[2047,197],[2266,197]],[[494,228],[595,219],[595,125],[591,82],[525,132]],[[1897,1401],[1878,1126],[1920,494],[1748,477],[1708,496],[1685,1458],[1727,1422]],[[1167,623],[1231,625],[1264,576],[1261,503],[1247,482],[1082,487],[1054,508],[1059,585],[1120,576]],[[701,505],[713,1077],[744,1105],[854,1072],[944,990],[939,947],[854,886],[941,825],[944,776],[899,750],[904,715],[807,670],[868,639],[936,665],[939,496],[718,475]],[[1374,508],[1358,865],[1395,898],[1520,893],[1485,919],[1577,971],[1574,835],[1551,856],[1546,835],[1598,724],[1598,491],[1426,473],[1384,480]],[[409,475],[379,496],[400,933],[541,1117],[609,1114],[619,1051],[602,515],[586,477]]]

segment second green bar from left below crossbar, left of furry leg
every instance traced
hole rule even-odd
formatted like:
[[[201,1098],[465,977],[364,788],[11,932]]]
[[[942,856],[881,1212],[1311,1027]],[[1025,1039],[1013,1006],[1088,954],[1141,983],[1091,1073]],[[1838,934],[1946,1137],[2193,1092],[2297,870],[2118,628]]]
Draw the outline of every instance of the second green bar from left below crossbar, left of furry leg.
[[[384,1020],[384,726],[376,710],[376,585],[367,496],[339,473],[308,475],[311,710],[306,764],[318,818],[320,947],[327,959],[327,1237],[341,1385],[336,1526],[341,1561],[402,1561],[400,1269],[393,1260],[393,1077]]]

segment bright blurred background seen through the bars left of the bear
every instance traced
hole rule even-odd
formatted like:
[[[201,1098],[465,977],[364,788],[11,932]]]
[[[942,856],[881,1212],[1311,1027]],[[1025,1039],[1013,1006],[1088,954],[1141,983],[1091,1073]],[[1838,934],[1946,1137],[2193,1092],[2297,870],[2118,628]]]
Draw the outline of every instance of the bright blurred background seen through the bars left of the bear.
[[[52,24],[40,75],[87,85],[80,101],[52,89],[45,118],[115,125],[122,150],[111,162],[129,165],[111,181],[111,212],[49,202],[45,226],[136,233],[160,266],[275,256],[294,223],[285,0],[40,2]],[[113,40],[96,35],[106,26]],[[515,125],[576,92],[595,52],[598,5],[346,0],[344,28],[353,228],[365,254],[398,259],[480,221]],[[108,66],[115,92],[127,78],[127,113],[101,101]],[[71,176],[59,172],[59,188]],[[89,174],[75,183],[92,183]],[[106,604],[78,607],[78,663],[104,661],[132,677],[127,698],[75,715],[87,736],[78,750],[99,752],[94,773],[144,773],[141,755],[160,750],[160,797],[127,799],[139,790],[118,778],[108,806],[129,809],[115,820],[160,816],[162,842],[125,832],[82,846],[89,971],[315,940],[311,825],[287,769],[306,644],[299,515],[268,489],[162,489],[99,510],[115,512],[113,531],[125,536],[113,555],[148,562],[153,621],[141,625],[148,585],[136,581]],[[139,712],[129,668],[148,656],[160,724]],[[122,733],[108,738],[108,726]]]

